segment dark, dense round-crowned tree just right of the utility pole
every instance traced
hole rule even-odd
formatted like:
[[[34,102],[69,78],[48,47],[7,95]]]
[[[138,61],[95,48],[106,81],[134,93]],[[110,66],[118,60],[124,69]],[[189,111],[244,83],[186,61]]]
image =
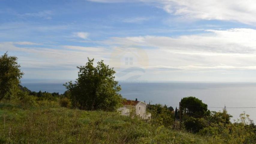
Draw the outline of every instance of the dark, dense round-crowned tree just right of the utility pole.
[[[195,97],[182,98],[181,107],[182,114],[200,118],[202,116],[209,116],[210,111],[207,109],[207,104]]]

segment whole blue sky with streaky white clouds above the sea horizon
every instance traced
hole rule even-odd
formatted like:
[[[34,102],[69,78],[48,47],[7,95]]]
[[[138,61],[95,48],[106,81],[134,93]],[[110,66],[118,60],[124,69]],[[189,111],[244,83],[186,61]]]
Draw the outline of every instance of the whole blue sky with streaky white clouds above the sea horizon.
[[[256,1],[0,0],[0,55],[24,79],[76,79],[87,58],[119,81],[256,82]]]

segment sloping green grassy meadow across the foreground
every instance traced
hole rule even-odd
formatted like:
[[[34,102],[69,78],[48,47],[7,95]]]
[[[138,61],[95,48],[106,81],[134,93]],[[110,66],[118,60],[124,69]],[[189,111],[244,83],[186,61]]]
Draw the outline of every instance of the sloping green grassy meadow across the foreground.
[[[118,113],[0,103],[0,143],[223,143]]]

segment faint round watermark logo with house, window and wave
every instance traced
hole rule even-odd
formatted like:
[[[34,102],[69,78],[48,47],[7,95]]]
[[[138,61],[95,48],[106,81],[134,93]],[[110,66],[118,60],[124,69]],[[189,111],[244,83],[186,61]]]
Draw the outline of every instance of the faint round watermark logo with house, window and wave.
[[[115,68],[119,79],[140,82],[138,79],[146,73],[149,60],[147,53],[141,48],[115,48],[110,57],[110,65]]]

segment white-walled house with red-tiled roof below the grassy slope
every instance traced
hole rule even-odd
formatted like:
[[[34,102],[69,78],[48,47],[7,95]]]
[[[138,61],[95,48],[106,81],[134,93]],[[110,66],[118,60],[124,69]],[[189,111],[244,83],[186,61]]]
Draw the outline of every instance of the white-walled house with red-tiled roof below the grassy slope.
[[[120,107],[118,111],[121,112],[123,116],[130,116],[135,112],[137,116],[141,119],[151,119],[151,113],[147,113],[147,104],[142,101],[125,101],[123,107]]]

